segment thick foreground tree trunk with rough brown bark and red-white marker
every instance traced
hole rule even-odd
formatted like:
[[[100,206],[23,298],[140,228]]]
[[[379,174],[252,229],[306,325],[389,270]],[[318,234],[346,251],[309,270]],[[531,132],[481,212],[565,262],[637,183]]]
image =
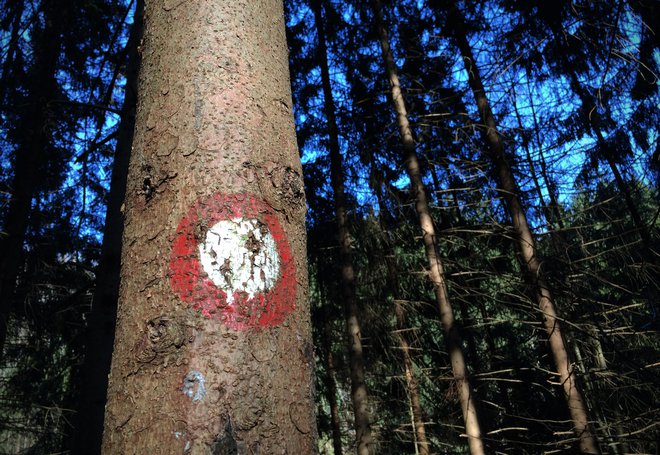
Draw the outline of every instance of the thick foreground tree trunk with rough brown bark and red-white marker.
[[[103,452],[313,453],[282,4],[147,1],[144,17]]]

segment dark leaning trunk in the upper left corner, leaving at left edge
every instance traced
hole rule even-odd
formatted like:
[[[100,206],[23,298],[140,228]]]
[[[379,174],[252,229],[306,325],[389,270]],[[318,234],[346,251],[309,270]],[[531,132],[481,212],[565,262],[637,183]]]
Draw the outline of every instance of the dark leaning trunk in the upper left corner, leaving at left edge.
[[[9,208],[0,229],[0,360],[7,338],[7,323],[14,303],[16,281],[23,262],[23,243],[30,208],[39,184],[39,172],[49,159],[51,141],[49,103],[57,96],[55,78],[60,56],[62,15],[65,5],[57,0],[43,2],[44,27],[32,37],[34,63],[25,111],[22,143],[16,150],[14,179]]]

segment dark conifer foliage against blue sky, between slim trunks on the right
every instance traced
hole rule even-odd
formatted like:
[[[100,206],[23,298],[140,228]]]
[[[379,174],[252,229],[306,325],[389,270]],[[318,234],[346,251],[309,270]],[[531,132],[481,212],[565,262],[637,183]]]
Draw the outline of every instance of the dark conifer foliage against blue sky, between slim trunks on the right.
[[[486,445],[500,453],[572,450],[575,439],[553,373],[543,315],[523,275],[493,170],[482,158],[486,145],[475,128],[476,109],[466,78],[457,69],[457,51],[443,33],[451,5],[430,3],[433,8],[392,4],[385,13],[417,151],[424,157],[450,298],[462,327],[475,394],[482,403]],[[488,2],[466,12],[477,64],[486,74],[507,159],[536,232],[543,273],[555,294],[575,374],[593,411],[603,450],[650,450],[653,436],[641,430],[653,428],[658,409],[645,408],[641,397],[655,396],[653,387],[658,384],[653,371],[657,309],[652,303],[659,276],[654,226],[658,198],[645,166],[653,151],[648,138],[658,134],[657,109],[649,109],[649,103],[657,105],[657,92],[632,102],[635,61],[611,52],[612,42],[634,44],[640,18],[633,13],[635,6],[608,2],[572,9],[568,3],[548,8],[542,2],[523,3]],[[290,6],[292,11],[304,8],[295,2]],[[405,308],[408,328],[403,333],[413,349],[432,452],[466,452],[433,289],[425,279],[414,201],[402,177],[384,70],[373,47],[371,13],[366,4],[327,2],[326,8],[341,15],[329,25],[339,27],[330,52],[335,90],[348,96],[337,114],[345,162],[351,163],[347,187],[355,195],[354,265],[378,439],[375,452],[415,453],[395,303]],[[308,14],[304,18],[311,21]],[[311,24],[307,27],[312,29]],[[557,30],[566,33],[565,40]],[[634,55],[633,48],[626,49]],[[302,55],[298,52],[314,49],[309,44],[294,46],[294,68]],[[315,74],[314,60],[304,62],[307,74]],[[316,264],[310,269],[311,279],[328,289],[313,303],[325,308],[324,315],[333,314],[334,321],[333,339],[321,337],[317,343],[341,358],[345,348],[338,321],[338,265],[336,256],[328,254],[335,242],[332,195],[330,188],[313,183],[323,182],[317,179],[326,172],[323,99],[307,77],[294,77],[293,87],[299,114],[314,118],[298,130],[302,156],[308,160],[306,174],[311,176],[310,261]],[[598,98],[605,138],[601,142],[596,141],[589,116],[583,116],[587,94]],[[360,167],[353,164],[357,162]],[[610,163],[623,172],[652,244],[642,244]],[[323,216],[317,217],[320,213]],[[325,222],[317,231],[321,219]],[[326,242],[318,257],[317,238]],[[327,333],[326,324],[327,320],[321,326],[315,323],[318,333]],[[605,367],[598,363],[602,358]],[[319,375],[327,373],[322,361],[318,366]],[[343,406],[350,406],[347,362],[341,366],[344,373],[337,370],[335,377],[344,390]],[[618,388],[626,392],[618,394]],[[324,406],[319,419],[320,431],[329,440],[328,411]],[[350,448],[350,418],[342,425],[345,447]]]

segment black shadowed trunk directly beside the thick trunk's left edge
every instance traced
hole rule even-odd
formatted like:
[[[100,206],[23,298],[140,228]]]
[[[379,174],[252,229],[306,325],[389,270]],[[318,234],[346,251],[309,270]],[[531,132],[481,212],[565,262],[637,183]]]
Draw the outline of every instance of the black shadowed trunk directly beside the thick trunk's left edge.
[[[125,72],[126,92],[112,166],[101,259],[96,271],[96,289],[88,319],[85,358],[81,368],[78,414],[73,435],[73,453],[80,455],[100,453],[103,439],[103,414],[119,296],[121,240],[124,227],[121,205],[126,196],[128,161],[135,129],[137,77],[140,66],[138,45],[142,39],[143,13],[144,0],[137,0],[133,26],[126,44],[128,50]]]

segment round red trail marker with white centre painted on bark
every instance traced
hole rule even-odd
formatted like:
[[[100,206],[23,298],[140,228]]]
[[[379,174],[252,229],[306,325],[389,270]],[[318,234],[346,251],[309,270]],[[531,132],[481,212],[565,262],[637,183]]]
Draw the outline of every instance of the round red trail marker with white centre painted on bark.
[[[295,308],[296,270],[282,226],[252,194],[198,201],[176,230],[174,292],[234,330],[272,327]]]

